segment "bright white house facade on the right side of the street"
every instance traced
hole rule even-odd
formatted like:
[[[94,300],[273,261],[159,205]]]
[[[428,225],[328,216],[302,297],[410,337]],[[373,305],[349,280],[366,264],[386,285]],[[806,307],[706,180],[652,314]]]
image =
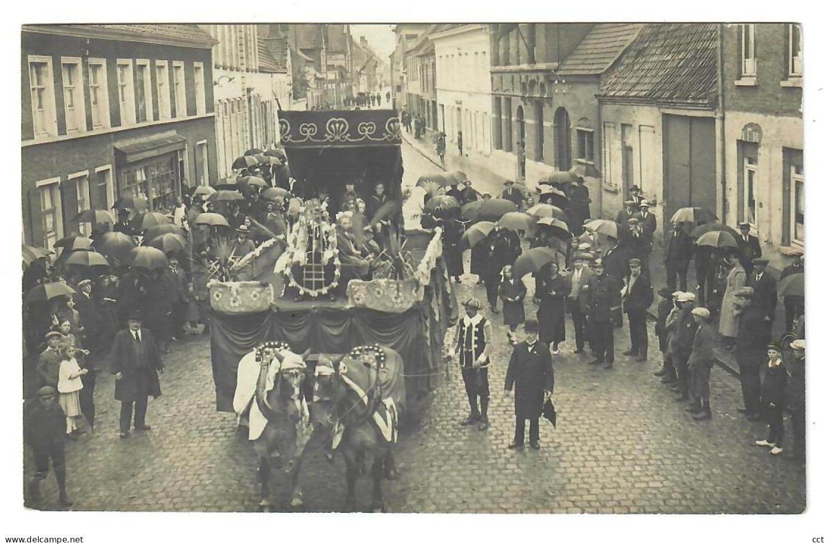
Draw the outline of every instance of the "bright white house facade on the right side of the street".
[[[492,84],[489,26],[460,25],[434,32],[438,129],[457,145],[463,133],[465,155],[492,152]]]

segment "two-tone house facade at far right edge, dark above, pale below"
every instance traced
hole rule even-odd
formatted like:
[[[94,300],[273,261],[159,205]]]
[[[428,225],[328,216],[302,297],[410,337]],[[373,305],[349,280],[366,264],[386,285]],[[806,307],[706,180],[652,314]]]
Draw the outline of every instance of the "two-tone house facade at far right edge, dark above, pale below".
[[[725,110],[725,219],[751,224],[778,270],[805,242],[802,31],[797,24],[720,26]]]

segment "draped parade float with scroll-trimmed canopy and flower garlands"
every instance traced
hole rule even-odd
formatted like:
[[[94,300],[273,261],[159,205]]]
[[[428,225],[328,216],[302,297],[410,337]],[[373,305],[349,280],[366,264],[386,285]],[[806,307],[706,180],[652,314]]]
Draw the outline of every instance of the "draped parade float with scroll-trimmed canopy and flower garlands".
[[[279,132],[306,196],[336,196],[355,180],[362,181],[363,194],[378,182],[385,186],[390,205],[369,224],[390,219],[383,250],[387,266],[358,277],[340,258],[325,202],[304,200],[282,246],[245,256],[250,281],[211,282],[216,409],[233,411],[240,359],[268,340],[284,341],[295,353],[310,350],[312,371],[319,354],[349,354],[374,344],[393,349],[404,362],[407,397],[416,405],[443,378],[444,335],[458,310],[439,229],[394,228],[400,224],[394,215],[400,214],[403,176],[397,113],[280,112]]]

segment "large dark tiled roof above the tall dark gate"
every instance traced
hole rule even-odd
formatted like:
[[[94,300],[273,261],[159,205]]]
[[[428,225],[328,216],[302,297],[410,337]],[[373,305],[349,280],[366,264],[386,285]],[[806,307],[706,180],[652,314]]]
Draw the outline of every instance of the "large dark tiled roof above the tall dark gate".
[[[715,23],[652,23],[631,42],[599,96],[713,106],[717,88]]]

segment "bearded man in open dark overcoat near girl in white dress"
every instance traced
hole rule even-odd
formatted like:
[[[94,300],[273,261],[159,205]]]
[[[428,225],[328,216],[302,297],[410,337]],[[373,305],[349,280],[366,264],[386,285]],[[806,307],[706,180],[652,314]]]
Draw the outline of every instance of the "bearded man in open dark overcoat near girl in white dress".
[[[129,436],[129,422],[133,417],[136,431],[148,431],[146,424],[147,399],[161,396],[158,373],[164,372],[161,353],[153,333],[141,326],[138,311],[129,315],[127,328],[119,330],[109,352],[111,372],[115,375],[115,400],[121,402],[120,434]]]

